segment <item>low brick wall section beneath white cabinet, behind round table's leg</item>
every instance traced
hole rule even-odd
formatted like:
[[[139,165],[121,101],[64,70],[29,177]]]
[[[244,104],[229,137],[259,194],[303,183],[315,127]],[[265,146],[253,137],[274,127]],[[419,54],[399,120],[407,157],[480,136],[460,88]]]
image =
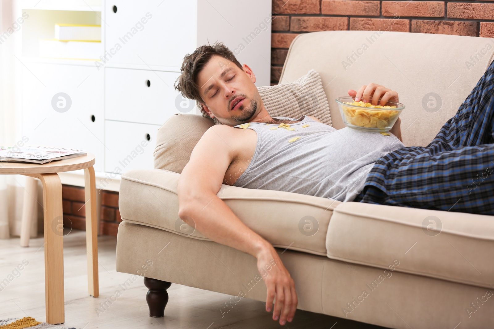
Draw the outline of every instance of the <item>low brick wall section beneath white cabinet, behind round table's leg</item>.
[[[119,193],[101,190],[100,232],[103,235],[117,236],[119,223],[122,221],[119,211]],[[62,207],[64,227],[86,229],[84,188],[62,185]]]

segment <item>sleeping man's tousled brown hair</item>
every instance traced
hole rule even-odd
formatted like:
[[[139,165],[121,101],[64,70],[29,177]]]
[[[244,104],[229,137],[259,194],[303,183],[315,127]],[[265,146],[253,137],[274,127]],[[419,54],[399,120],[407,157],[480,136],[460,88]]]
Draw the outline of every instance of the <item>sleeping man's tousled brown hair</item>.
[[[182,93],[182,96],[188,99],[197,101],[199,108],[199,102],[203,102],[203,97],[199,92],[199,85],[197,84],[197,75],[212,56],[221,56],[229,61],[232,61],[242,70],[242,65],[239,63],[235,55],[227,46],[221,42],[215,42],[212,46],[205,44],[198,47],[192,54],[187,54],[182,62],[180,73],[182,73],[175,81],[175,89]]]

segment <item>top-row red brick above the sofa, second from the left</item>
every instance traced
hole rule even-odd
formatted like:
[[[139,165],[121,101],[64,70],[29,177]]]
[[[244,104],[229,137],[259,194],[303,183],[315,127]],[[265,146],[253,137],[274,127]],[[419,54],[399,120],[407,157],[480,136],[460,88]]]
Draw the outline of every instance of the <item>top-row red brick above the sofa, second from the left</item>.
[[[379,1],[323,0],[321,12],[328,15],[380,16]]]

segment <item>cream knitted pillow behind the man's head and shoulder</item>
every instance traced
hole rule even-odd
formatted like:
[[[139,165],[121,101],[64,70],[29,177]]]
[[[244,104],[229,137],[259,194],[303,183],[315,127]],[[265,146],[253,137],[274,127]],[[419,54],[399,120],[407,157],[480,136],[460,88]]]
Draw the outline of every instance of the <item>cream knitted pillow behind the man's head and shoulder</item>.
[[[321,76],[315,70],[289,83],[258,87],[264,106],[269,115],[299,118],[302,115],[315,116],[331,126],[329,103],[324,92]],[[209,117],[201,104],[197,104],[203,116]],[[221,124],[213,118],[214,124]]]

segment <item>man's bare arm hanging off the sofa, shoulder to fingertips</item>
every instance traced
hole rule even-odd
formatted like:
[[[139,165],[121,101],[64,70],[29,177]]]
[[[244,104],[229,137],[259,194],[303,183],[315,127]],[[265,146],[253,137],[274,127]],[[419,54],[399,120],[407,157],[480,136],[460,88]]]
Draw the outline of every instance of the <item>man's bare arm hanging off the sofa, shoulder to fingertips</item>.
[[[178,215],[209,239],[257,258],[267,287],[266,310],[271,311],[276,296],[273,319],[284,325],[293,319],[297,306],[293,279],[273,246],[216,195],[238,149],[233,134],[231,127],[213,126],[196,145],[178,181]]]

